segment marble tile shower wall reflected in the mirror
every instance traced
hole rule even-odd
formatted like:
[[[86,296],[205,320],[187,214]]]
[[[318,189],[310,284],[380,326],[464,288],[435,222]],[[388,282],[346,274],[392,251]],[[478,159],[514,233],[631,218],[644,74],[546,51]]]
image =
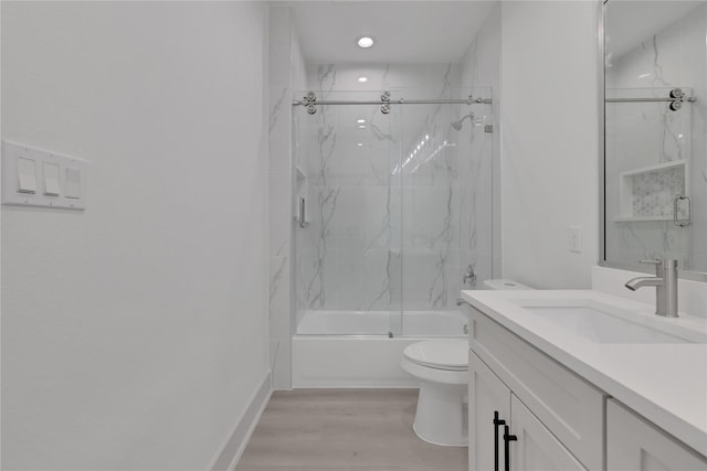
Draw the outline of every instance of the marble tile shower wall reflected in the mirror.
[[[707,4],[657,32],[621,57],[612,57],[606,71],[609,94],[665,96],[682,87],[698,97],[679,111],[665,104],[611,104],[606,106],[606,258],[672,257],[680,267],[707,271]],[[680,228],[672,221],[614,222],[619,212],[620,173],[651,164],[688,159],[693,224]],[[652,179],[646,175],[645,179]],[[653,184],[654,182],[644,182]],[[671,181],[665,181],[669,185]],[[674,182],[677,186],[677,182]],[[655,192],[654,192],[655,193]],[[634,201],[635,212],[662,212],[666,201]],[[672,201],[669,202],[672,206]],[[672,214],[672,208],[668,211]]]

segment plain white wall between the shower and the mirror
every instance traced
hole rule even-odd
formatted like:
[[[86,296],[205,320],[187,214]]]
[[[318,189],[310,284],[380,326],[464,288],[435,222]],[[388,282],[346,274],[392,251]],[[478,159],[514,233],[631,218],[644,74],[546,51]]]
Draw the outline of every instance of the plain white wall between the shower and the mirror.
[[[589,288],[598,260],[598,12],[502,3],[503,275],[538,288]]]

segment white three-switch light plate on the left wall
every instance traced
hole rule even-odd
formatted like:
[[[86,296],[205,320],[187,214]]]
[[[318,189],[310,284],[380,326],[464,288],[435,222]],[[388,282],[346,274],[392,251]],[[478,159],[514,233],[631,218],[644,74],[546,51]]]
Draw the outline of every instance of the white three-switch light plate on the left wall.
[[[3,140],[2,204],[85,210],[86,168],[81,159]]]

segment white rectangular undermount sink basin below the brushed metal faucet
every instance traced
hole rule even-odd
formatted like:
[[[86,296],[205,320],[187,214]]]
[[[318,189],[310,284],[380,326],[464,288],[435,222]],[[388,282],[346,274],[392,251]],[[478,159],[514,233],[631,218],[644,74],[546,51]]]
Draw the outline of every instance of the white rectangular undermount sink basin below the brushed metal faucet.
[[[707,332],[678,325],[679,321],[590,299],[516,302],[534,315],[594,343],[707,343]]]

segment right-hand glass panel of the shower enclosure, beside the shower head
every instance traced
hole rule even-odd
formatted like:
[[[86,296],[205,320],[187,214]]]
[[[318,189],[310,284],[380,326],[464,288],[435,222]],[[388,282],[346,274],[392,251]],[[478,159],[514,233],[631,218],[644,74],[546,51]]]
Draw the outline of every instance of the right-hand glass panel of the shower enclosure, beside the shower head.
[[[490,88],[393,89],[407,101],[490,98]],[[401,121],[401,244],[403,331],[458,335],[445,329],[468,267],[477,279],[493,271],[493,115],[490,104],[410,104]],[[418,321],[420,320],[420,321]],[[455,325],[454,321],[450,325]]]

